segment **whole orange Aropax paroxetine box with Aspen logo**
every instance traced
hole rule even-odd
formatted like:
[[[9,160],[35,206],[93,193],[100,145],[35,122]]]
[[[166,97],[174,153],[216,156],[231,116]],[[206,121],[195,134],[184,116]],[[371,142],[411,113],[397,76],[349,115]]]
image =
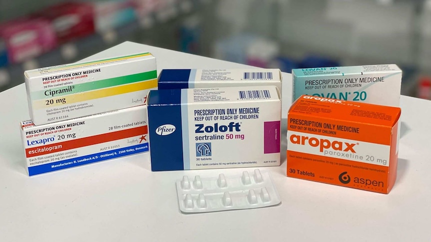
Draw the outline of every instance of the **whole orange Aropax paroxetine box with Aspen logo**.
[[[401,109],[300,96],[287,115],[287,176],[388,194]]]

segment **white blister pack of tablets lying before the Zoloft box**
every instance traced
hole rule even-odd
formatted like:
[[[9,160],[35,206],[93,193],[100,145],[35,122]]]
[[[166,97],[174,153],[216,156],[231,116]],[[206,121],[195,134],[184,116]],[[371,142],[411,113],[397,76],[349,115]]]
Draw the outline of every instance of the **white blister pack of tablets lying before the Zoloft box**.
[[[281,202],[269,172],[247,171],[239,176],[200,178],[183,176],[176,181],[179,209],[183,213],[254,209]]]

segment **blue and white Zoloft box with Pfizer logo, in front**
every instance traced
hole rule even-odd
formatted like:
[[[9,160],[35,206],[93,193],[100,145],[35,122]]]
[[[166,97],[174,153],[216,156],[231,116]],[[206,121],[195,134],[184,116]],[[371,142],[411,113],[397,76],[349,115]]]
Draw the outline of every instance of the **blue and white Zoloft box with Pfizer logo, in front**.
[[[275,86],[150,91],[151,170],[278,166],[280,108]]]

